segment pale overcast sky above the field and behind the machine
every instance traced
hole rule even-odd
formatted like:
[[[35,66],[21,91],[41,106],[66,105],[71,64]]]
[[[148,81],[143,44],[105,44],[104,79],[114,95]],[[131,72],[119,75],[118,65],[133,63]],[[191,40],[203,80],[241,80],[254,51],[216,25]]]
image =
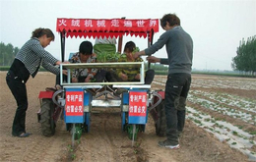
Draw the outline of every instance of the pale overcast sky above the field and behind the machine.
[[[45,49],[60,59],[57,18],[160,19],[175,13],[194,40],[193,69],[232,70],[231,59],[242,38],[256,35],[256,0],[0,0],[0,41],[21,48],[37,27],[48,27],[55,41]],[[154,36],[154,42],[164,30]],[[88,39],[88,38],[86,38]],[[85,38],[67,38],[66,54],[77,52]],[[95,42],[93,39],[92,43]],[[133,40],[142,50],[147,39]],[[155,56],[166,58],[165,47]]]

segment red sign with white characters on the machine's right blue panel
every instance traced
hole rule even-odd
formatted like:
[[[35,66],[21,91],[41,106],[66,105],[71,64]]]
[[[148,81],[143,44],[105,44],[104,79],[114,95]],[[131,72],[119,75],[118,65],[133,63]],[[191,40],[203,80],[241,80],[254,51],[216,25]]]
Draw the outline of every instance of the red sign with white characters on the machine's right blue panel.
[[[130,91],[129,116],[146,117],[147,115],[147,92]]]

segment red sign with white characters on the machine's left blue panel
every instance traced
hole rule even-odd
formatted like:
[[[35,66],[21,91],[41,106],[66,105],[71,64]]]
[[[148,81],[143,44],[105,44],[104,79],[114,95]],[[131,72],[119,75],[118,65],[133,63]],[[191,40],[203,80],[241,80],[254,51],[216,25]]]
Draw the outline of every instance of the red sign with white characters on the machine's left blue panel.
[[[84,115],[84,91],[66,91],[66,116]]]

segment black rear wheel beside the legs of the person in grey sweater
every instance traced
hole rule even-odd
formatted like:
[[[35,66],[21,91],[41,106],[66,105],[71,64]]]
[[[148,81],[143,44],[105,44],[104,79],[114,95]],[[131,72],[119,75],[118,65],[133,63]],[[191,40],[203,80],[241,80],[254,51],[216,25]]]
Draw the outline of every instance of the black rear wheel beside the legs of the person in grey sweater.
[[[166,117],[165,117],[165,110],[164,110],[164,100],[160,102],[160,105],[156,107],[158,112],[158,118],[155,124],[156,127],[156,134],[159,136],[166,135]]]

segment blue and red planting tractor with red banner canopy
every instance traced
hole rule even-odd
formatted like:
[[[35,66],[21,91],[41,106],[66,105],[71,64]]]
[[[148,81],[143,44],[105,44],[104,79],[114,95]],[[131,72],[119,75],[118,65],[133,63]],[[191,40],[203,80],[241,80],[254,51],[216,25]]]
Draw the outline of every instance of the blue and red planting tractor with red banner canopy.
[[[121,53],[123,36],[140,36],[153,43],[154,33],[159,31],[158,19],[57,19],[56,30],[60,33],[61,59],[65,60],[65,39],[78,37],[118,38],[117,52]],[[104,53],[104,52],[102,52]],[[96,53],[97,54],[97,53]],[[106,52],[104,53],[106,54]],[[118,82],[72,82],[74,69],[96,68],[114,70],[118,68],[139,68],[140,81]],[[150,63],[148,65],[150,67]],[[144,84],[145,63],[143,62],[105,62],[60,65],[60,73],[68,72],[67,79],[60,76],[60,89],[46,88],[40,91],[40,109],[37,112],[42,135],[55,134],[56,122],[64,120],[66,130],[72,134],[72,141],[83,133],[90,132],[91,114],[94,108],[118,108],[121,113],[121,131],[127,132],[133,141],[138,133],[145,132],[148,115],[155,121],[156,134],[165,134],[164,91],[151,90]],[[120,96],[113,95],[113,89],[125,88]],[[94,93],[92,89],[96,89]]]

